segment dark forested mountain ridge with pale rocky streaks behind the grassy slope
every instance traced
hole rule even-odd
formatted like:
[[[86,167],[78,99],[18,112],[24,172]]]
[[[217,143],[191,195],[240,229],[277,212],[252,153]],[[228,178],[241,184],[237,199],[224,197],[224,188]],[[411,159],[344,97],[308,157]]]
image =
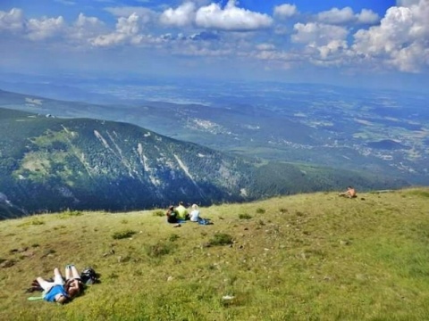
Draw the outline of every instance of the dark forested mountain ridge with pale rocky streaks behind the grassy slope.
[[[26,102],[38,106],[37,99]],[[0,177],[0,218],[408,185],[374,173],[220,152],[124,122],[9,108],[0,108]]]

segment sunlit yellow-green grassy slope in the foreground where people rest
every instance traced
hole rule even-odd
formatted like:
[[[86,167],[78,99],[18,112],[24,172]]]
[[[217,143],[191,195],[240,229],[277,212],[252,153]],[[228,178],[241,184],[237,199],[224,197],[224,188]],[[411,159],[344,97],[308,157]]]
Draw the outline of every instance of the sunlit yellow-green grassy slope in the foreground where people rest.
[[[156,211],[2,221],[0,259],[15,264],[0,268],[0,319],[422,320],[428,201],[428,189],[299,194],[204,208],[213,226],[180,228]],[[218,233],[233,245],[202,246]],[[27,300],[33,278],[71,262],[102,283],[65,306]]]

